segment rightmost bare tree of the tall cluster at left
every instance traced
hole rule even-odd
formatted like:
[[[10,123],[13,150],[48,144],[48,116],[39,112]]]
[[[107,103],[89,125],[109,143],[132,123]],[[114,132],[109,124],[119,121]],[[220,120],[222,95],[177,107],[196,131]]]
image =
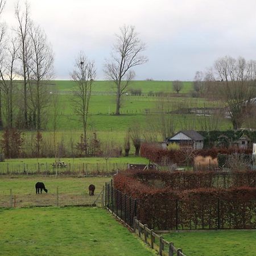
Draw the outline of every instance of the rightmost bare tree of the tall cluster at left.
[[[47,82],[53,77],[53,52],[46,34],[39,26],[31,26],[29,35],[31,55],[27,62],[27,67],[30,69],[28,85],[35,127],[39,131],[42,128],[42,119],[45,114],[43,111],[49,104]]]

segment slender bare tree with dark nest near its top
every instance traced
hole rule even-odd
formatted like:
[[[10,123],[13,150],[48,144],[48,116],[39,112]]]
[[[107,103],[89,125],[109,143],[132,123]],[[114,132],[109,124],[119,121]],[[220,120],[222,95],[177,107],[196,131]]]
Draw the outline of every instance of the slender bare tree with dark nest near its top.
[[[84,129],[84,151],[87,154],[87,126],[89,114],[89,102],[92,92],[93,81],[96,77],[96,68],[94,61],[87,59],[83,52],[79,53],[75,61],[75,69],[71,74],[73,81],[76,83],[75,98],[73,106],[75,112],[79,115]]]

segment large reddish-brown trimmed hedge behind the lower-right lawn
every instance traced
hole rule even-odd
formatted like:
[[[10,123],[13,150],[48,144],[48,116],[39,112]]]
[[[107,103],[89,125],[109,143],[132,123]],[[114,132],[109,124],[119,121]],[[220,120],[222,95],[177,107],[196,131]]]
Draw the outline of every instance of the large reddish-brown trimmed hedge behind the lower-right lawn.
[[[229,188],[217,188],[224,179]],[[150,228],[256,228],[256,172],[125,171],[114,187],[137,199],[137,217]]]

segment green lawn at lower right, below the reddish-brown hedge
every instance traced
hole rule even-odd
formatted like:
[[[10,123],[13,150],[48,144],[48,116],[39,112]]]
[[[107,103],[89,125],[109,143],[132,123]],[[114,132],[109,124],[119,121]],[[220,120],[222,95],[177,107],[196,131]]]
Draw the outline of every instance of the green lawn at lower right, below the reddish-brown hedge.
[[[256,230],[197,231],[163,234],[189,256],[254,256]]]

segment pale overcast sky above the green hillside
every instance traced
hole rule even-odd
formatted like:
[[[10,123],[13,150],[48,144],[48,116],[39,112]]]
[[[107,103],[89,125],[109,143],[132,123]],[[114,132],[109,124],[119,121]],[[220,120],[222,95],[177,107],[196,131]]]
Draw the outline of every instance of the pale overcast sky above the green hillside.
[[[22,1],[21,1],[22,2]],[[123,24],[146,43],[148,63],[136,80],[193,80],[218,57],[256,59],[255,0],[30,0],[31,16],[46,31],[55,53],[55,79],[70,79],[82,50],[104,80],[104,61]],[[3,20],[15,27],[7,0]]]

